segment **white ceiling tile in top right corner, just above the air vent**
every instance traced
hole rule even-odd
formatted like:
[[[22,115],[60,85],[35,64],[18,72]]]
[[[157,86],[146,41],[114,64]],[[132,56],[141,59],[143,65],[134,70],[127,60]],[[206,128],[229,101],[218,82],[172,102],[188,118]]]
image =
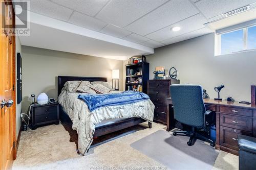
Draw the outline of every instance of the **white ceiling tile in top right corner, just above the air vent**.
[[[195,5],[207,18],[211,18],[254,2],[256,0],[201,0]]]

